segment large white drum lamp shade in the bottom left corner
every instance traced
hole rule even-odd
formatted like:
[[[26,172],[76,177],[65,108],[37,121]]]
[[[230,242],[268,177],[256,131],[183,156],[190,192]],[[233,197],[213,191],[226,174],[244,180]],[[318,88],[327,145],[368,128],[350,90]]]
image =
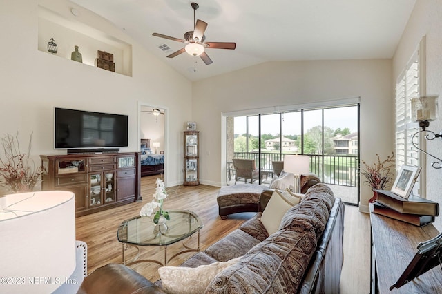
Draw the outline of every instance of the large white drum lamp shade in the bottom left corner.
[[[0,283],[0,293],[52,293],[73,273],[74,193],[6,195],[0,231],[1,277],[16,279]]]

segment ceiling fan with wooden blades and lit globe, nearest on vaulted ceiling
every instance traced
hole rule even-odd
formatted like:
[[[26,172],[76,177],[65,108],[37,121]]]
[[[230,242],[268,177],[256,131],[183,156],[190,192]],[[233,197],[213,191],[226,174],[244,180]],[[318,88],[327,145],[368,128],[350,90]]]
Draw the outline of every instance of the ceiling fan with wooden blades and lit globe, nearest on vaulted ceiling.
[[[209,55],[207,55],[206,52],[204,51],[205,48],[235,49],[236,43],[205,42],[206,36],[204,35],[204,32],[206,31],[207,23],[200,19],[197,19],[195,22],[196,10],[200,6],[194,2],[191,3],[191,6],[193,8],[193,31],[186,32],[184,34],[184,40],[174,38],[173,36],[166,36],[165,34],[158,34],[156,32],[154,32],[152,35],[159,36],[160,38],[169,39],[172,41],[187,43],[187,45],[184,46],[184,48],[181,48],[180,50],[173,52],[172,54],[169,54],[167,57],[173,58],[175,56],[182,54],[185,51],[190,55],[200,56],[202,61],[204,61],[206,65],[209,65],[213,63],[213,61],[210,59]]]

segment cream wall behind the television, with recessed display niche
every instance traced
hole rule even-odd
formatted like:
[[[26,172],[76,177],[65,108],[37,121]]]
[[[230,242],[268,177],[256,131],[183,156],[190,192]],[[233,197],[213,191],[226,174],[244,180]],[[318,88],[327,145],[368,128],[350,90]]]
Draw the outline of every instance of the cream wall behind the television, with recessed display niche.
[[[132,77],[37,50],[39,4],[132,44]],[[77,7],[80,16],[70,14],[70,7]],[[31,152],[39,164],[39,154],[66,154],[53,148],[55,106],[111,112],[129,116],[129,146],[122,151],[138,151],[138,103],[164,105],[169,113],[170,149],[166,150],[166,183],[182,181],[182,130],[191,120],[191,83],[186,78],[122,30],[68,1],[0,1],[0,26],[0,135],[19,132],[21,148],[26,149],[33,132]]]

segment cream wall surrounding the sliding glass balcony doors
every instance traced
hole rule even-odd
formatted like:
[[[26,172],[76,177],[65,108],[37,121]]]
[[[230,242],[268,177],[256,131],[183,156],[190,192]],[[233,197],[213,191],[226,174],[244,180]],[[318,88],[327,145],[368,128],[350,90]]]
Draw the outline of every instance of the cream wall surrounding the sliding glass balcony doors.
[[[391,60],[280,61],[193,83],[193,120],[200,130],[200,178],[225,182],[222,112],[361,97],[361,159],[392,152]],[[224,139],[225,140],[225,139]],[[371,189],[361,187],[361,210]]]

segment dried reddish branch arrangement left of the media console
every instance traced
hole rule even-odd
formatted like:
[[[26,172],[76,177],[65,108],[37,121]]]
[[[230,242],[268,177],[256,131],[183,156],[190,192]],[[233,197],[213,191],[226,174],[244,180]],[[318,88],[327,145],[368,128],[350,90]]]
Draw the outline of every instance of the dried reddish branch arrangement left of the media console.
[[[0,156],[0,185],[15,193],[32,191],[44,171],[41,166],[35,167],[35,162],[30,158],[32,133],[27,153],[21,153],[18,135],[6,134],[1,138],[4,157]]]

